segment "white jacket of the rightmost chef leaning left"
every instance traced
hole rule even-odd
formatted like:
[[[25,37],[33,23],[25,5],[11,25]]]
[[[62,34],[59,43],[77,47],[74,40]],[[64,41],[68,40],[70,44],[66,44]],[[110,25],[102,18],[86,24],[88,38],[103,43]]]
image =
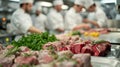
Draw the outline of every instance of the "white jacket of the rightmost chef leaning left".
[[[105,12],[99,7],[96,8],[95,12],[90,12],[88,14],[88,19],[96,21],[100,27],[107,26],[107,16],[105,15]]]

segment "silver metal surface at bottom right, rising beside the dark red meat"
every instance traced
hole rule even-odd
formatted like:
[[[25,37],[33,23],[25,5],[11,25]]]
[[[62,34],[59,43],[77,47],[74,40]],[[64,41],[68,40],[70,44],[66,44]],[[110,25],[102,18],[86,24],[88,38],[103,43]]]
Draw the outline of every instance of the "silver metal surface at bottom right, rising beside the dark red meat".
[[[93,67],[120,67],[120,45],[112,45],[106,57],[91,57]]]

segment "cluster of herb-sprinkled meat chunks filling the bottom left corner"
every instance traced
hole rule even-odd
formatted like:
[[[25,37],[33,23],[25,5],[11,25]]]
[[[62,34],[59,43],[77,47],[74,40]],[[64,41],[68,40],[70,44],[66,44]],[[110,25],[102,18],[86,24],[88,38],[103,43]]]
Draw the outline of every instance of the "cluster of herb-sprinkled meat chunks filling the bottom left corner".
[[[31,52],[27,47],[20,47],[19,51],[12,53],[12,51],[9,52],[11,49],[14,50],[12,46],[8,46],[0,51],[1,67],[21,67],[22,65],[36,65],[39,63],[35,51]],[[29,49],[29,51],[26,51],[26,49]]]

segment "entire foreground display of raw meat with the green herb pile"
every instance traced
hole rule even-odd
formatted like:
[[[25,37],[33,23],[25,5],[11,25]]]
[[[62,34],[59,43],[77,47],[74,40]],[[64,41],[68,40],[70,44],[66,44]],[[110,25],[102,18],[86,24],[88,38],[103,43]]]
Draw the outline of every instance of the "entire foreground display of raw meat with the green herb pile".
[[[106,56],[111,50],[108,41],[82,40],[76,34],[80,36],[31,34],[0,45],[0,67],[92,67],[91,56]]]

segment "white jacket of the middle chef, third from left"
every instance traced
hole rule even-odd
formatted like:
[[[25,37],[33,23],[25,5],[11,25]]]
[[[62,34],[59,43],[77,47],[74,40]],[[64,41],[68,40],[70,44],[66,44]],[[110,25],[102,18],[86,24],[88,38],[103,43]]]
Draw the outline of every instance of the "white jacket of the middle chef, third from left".
[[[47,18],[48,22],[46,25],[51,34],[59,34],[59,32],[55,31],[57,28],[64,29],[64,20],[60,12],[57,12],[55,9],[51,9]]]

